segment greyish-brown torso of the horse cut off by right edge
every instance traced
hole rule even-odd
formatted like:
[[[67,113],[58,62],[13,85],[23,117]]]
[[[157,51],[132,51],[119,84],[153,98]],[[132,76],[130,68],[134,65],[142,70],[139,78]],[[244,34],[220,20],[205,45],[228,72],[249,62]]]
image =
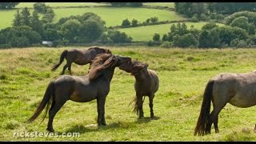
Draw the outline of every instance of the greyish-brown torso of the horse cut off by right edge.
[[[256,73],[222,73],[214,78],[214,97],[221,97],[238,107],[256,104]]]

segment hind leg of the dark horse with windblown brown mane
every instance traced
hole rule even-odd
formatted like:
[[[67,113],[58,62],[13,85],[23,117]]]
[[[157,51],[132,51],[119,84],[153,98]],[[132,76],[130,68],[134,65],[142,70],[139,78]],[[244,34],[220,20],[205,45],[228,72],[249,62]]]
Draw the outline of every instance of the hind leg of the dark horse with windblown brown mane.
[[[61,109],[61,107],[65,104],[66,100],[62,99],[61,102],[56,102],[55,100],[52,102],[49,110],[49,121],[47,125],[47,129],[50,132],[54,132],[53,128],[53,121],[54,121],[54,116],[57,114],[58,110]]]

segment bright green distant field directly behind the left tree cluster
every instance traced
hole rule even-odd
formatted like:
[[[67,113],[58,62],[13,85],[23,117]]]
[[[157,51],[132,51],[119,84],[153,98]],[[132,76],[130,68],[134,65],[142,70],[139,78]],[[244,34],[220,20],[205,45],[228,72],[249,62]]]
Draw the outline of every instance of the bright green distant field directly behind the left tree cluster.
[[[63,4],[64,5],[64,4]],[[56,14],[54,17],[54,22],[58,22],[60,18],[69,17],[70,15],[82,15],[88,12],[98,14],[105,22],[106,26],[117,26],[122,24],[122,20],[128,18],[130,21],[135,18],[139,22],[146,21],[147,18],[158,17],[159,21],[175,21],[183,20],[182,16],[170,12],[167,10],[155,10],[155,9],[146,9],[146,8],[131,8],[131,7],[122,7],[122,8],[110,8],[110,7],[97,7],[97,8],[59,8],[54,9]],[[10,26],[16,10],[0,10],[1,20],[0,29]],[[30,10],[32,13],[32,10]]]

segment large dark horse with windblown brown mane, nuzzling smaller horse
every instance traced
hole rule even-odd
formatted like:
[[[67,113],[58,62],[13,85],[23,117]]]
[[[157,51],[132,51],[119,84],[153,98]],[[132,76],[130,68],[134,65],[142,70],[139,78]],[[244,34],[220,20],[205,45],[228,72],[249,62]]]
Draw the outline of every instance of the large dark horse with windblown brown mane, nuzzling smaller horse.
[[[46,114],[49,110],[49,122],[46,130],[54,132],[53,120],[58,110],[66,101],[90,102],[97,99],[98,126],[105,126],[105,101],[110,91],[110,81],[113,78],[114,69],[122,62],[131,61],[130,57],[112,54],[100,54],[90,65],[89,74],[85,76],[62,75],[47,86],[46,93],[42,98],[34,115],[28,120],[33,122],[41,114],[46,104]],[[44,118],[46,118],[46,114]],[[44,120],[43,118],[43,120]],[[42,121],[43,121],[42,120]]]

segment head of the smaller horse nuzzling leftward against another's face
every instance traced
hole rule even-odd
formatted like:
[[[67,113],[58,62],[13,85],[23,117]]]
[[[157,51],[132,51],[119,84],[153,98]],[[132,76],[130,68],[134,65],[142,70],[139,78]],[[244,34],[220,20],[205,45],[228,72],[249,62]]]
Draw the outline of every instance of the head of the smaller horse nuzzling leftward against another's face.
[[[132,60],[131,62],[124,62],[119,66],[120,70],[125,70],[127,73],[131,73],[133,75],[137,74],[139,71],[143,69],[147,69],[149,65],[143,62],[138,62],[136,60]]]

